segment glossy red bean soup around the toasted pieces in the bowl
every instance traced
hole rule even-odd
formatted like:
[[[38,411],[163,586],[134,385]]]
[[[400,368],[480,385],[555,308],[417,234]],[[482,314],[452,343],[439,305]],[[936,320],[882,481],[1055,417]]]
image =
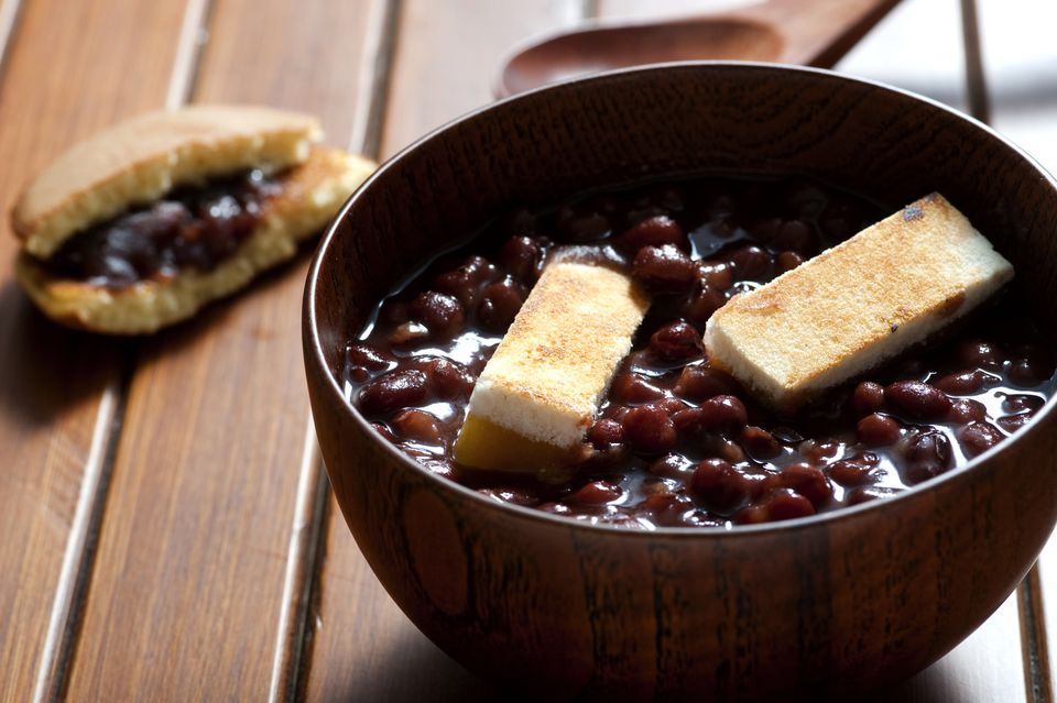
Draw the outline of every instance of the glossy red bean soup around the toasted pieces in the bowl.
[[[1022,305],[1003,294],[795,417],[710,367],[700,333],[732,296],[893,210],[804,178],[698,178],[516,211],[380,304],[348,347],[346,392],[428,470],[579,520],[730,527],[884,498],[1003,441],[1053,395],[1053,345]],[[567,244],[624,261],[653,293],[633,350],[576,465],[462,466],[451,447],[473,383]]]

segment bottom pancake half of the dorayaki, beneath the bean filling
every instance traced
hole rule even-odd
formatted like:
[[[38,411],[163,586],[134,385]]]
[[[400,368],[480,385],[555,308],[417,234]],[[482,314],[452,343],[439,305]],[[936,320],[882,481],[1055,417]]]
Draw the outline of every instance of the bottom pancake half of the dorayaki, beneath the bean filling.
[[[253,231],[211,271],[186,268],[166,281],[106,288],[56,277],[23,252],[15,275],[37,307],[67,326],[112,334],[154,332],[292,257],[297,243],[323,229],[373,169],[373,163],[339,150],[312,150],[283,177],[281,194],[265,201]]]

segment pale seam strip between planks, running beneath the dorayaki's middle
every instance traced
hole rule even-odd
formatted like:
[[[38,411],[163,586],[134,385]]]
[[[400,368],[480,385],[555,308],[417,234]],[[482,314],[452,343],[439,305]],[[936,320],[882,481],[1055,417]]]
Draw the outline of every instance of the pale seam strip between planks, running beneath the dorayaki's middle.
[[[197,63],[203,46],[203,28],[208,21],[213,0],[188,0],[176,41],[176,55],[170,77],[165,107],[179,106],[193,89],[197,78]],[[18,1],[14,3],[18,6]],[[0,37],[13,26],[14,12],[8,19],[8,6],[0,8]],[[174,102],[176,101],[176,102]],[[130,351],[134,347],[130,347]],[[63,696],[67,669],[73,660],[75,636],[80,626],[84,601],[95,561],[94,542],[102,520],[109,476],[117,458],[118,441],[124,419],[126,399],[135,371],[134,353],[123,362],[124,373],[110,380],[102,392],[96,424],[92,428],[88,459],[81,477],[80,492],[70,524],[69,537],[63,553],[52,613],[37,668],[34,703],[54,701]]]

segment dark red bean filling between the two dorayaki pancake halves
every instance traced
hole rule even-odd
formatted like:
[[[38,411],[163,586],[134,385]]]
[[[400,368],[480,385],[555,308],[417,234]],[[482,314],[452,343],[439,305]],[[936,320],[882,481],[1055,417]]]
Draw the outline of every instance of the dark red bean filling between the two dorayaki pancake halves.
[[[253,231],[264,204],[282,190],[259,169],[185,186],[70,237],[47,270],[72,281],[124,288],[181,270],[213,271]]]

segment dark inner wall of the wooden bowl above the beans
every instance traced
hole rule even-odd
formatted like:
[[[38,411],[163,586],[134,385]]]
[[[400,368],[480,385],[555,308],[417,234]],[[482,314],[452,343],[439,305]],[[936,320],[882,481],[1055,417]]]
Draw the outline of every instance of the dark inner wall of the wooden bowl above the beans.
[[[390,161],[337,219],[313,270],[317,353],[346,343],[424,261],[515,206],[666,174],[806,174],[893,208],[939,191],[1057,318],[1051,177],[938,103],[817,69],[700,62],[619,72],[505,100]],[[325,300],[325,304],[318,304]]]

